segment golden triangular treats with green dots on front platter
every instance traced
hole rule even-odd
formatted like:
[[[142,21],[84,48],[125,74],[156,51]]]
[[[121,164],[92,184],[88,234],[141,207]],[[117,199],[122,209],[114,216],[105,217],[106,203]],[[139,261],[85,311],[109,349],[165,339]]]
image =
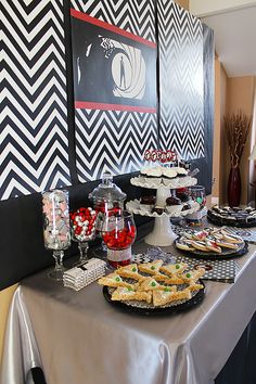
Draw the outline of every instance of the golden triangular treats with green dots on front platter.
[[[204,273],[204,268],[188,270],[185,263],[164,265],[163,260],[154,260],[120,267],[98,282],[104,285],[110,302],[120,302],[148,313],[149,310],[179,307],[200,291],[203,293],[200,279]]]

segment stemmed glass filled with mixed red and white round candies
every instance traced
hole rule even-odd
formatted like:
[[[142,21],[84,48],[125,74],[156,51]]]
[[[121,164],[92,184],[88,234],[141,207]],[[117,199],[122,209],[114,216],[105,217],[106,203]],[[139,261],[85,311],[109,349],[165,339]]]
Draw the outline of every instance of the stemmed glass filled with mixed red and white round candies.
[[[91,207],[81,207],[71,215],[72,240],[78,242],[79,260],[74,264],[74,267],[80,266],[88,259],[88,242],[95,239],[97,230],[97,213]]]

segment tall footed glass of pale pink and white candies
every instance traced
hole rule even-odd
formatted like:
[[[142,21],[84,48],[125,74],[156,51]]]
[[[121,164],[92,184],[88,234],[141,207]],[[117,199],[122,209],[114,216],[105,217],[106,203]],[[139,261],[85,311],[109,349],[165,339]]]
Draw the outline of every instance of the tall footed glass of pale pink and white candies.
[[[42,192],[43,240],[47,249],[53,251],[55,267],[48,273],[50,279],[63,279],[64,251],[71,246],[68,192],[53,190]]]

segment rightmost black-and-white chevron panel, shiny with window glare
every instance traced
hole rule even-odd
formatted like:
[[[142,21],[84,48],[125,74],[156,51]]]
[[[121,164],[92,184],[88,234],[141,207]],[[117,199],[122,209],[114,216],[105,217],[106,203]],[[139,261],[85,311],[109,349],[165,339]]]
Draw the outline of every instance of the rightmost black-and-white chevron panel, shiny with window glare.
[[[202,23],[170,0],[157,2],[157,15],[161,146],[204,157]]]

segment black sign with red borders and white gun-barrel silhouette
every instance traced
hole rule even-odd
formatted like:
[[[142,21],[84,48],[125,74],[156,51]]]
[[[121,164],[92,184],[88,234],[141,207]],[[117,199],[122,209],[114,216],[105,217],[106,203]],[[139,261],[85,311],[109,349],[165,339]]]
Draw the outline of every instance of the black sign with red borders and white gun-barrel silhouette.
[[[156,44],[71,13],[75,107],[156,113]]]

